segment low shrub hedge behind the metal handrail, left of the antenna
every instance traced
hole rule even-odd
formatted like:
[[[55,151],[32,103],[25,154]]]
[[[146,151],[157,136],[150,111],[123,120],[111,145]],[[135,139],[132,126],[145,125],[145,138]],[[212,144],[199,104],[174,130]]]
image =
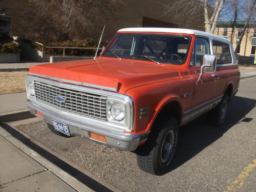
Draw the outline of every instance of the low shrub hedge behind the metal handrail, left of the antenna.
[[[67,40],[62,42],[49,42],[49,41],[41,41],[42,46],[33,42],[32,46],[34,49],[38,51],[43,51],[47,54],[63,54],[63,49],[50,49],[46,48],[46,46],[57,46],[57,47],[98,47],[98,43],[93,41],[92,39],[84,39],[84,40]],[[103,44],[101,44],[102,47]],[[82,55],[95,55],[95,50],[84,50],[84,49],[65,49],[65,55],[73,55],[73,56],[82,56]]]

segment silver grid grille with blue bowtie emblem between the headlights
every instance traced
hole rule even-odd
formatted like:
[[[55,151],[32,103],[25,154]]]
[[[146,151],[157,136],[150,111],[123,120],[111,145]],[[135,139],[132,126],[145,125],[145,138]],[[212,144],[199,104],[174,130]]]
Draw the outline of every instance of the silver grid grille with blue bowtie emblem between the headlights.
[[[38,101],[55,108],[97,120],[107,121],[107,97],[34,82],[35,96]],[[56,96],[65,98],[65,102],[55,100]]]

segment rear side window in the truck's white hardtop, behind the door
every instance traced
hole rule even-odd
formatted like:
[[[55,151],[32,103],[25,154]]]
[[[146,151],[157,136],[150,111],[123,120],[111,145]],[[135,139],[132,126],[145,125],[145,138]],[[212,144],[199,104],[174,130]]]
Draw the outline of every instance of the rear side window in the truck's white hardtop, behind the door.
[[[217,57],[217,64],[232,63],[232,56],[228,44],[213,41],[213,52]]]

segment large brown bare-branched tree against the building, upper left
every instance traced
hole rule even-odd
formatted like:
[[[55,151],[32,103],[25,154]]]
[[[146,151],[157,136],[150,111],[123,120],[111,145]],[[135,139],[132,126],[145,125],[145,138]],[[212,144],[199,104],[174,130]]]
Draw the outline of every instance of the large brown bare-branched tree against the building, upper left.
[[[113,10],[122,0],[28,0],[22,5],[23,25],[27,34],[37,39],[67,40],[94,29],[100,20],[115,19]],[[111,17],[112,16],[112,17]],[[94,23],[92,23],[94,21]],[[106,23],[106,22],[105,22]]]

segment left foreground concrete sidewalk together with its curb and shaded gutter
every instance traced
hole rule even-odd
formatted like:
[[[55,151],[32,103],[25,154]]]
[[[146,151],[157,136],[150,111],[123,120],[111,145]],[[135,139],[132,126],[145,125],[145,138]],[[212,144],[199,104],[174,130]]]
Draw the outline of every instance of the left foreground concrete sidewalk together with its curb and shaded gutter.
[[[119,191],[9,124],[0,123],[0,146],[1,192]]]

